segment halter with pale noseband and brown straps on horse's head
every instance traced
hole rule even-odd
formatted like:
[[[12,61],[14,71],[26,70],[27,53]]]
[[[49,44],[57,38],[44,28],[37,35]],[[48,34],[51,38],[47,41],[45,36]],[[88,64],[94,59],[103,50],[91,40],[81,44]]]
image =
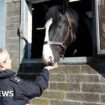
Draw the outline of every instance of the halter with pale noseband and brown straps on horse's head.
[[[66,48],[68,46],[67,43],[66,43],[67,40],[70,38],[71,39],[70,43],[72,43],[73,40],[75,39],[75,34],[72,31],[71,20],[70,20],[70,17],[69,17],[67,12],[66,12],[66,17],[67,17],[67,21],[68,21],[68,29],[67,29],[67,33],[66,33],[66,36],[64,38],[64,41],[63,42],[56,42],[56,41],[45,41],[44,42],[44,44],[61,46],[62,47],[62,54],[61,54],[62,57],[64,56]]]

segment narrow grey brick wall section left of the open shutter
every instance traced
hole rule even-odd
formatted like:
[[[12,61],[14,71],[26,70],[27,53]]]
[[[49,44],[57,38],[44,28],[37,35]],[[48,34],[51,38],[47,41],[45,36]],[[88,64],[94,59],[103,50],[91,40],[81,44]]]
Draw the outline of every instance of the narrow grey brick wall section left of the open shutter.
[[[7,0],[6,48],[10,53],[14,71],[19,68],[20,0]]]

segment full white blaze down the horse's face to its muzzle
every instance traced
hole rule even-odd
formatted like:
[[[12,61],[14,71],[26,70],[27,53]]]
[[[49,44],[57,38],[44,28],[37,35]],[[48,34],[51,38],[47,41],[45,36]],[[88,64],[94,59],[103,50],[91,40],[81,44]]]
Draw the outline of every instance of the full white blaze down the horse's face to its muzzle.
[[[45,41],[49,42],[49,28],[50,28],[52,22],[53,22],[53,20],[52,20],[52,18],[50,18],[45,24],[45,39],[44,39],[44,42]],[[54,56],[53,56],[50,44],[44,44],[43,45],[43,60],[46,64],[54,63]]]

